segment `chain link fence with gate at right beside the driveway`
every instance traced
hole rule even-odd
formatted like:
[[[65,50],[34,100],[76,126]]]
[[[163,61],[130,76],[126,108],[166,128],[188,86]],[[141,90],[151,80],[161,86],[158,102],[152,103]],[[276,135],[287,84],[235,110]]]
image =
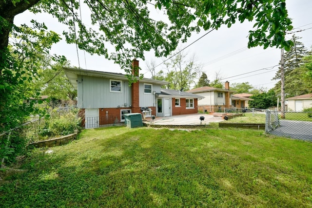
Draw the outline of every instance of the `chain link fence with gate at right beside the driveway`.
[[[266,111],[267,133],[312,141],[312,112]]]

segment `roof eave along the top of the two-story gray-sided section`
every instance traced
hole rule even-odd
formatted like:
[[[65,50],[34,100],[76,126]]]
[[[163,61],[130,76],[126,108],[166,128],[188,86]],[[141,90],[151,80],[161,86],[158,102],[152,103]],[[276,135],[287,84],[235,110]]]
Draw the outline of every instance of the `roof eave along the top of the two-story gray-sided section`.
[[[68,77],[70,83],[73,87],[77,90],[77,80],[78,75],[80,76],[96,76],[96,77],[103,77],[103,78],[110,78],[110,79],[119,79],[119,80],[128,80],[125,74],[121,73],[113,73],[113,72],[100,72],[100,71],[93,71],[93,70],[86,70],[86,69],[78,69],[78,68],[66,68],[63,67],[63,70]],[[137,78],[138,81],[144,81],[145,83],[151,84],[159,84],[159,85],[166,85],[169,82],[160,81],[156,79],[148,79],[148,78]]]

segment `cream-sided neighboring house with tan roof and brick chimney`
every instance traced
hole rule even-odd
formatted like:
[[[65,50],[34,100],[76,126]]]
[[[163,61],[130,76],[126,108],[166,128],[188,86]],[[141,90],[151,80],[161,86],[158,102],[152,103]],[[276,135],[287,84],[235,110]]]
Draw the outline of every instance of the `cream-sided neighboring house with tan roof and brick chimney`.
[[[225,82],[225,89],[214,87],[199,87],[187,91],[195,95],[203,96],[203,99],[198,100],[198,111],[216,112],[221,108],[232,108],[232,96],[234,91],[230,90],[230,83]]]

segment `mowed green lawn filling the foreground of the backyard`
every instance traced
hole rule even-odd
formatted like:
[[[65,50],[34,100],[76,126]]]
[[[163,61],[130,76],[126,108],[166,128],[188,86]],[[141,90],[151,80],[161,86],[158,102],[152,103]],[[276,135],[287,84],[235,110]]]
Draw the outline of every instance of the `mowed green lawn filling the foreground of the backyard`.
[[[255,130],[110,127],[31,151],[1,207],[312,207],[312,143]]]

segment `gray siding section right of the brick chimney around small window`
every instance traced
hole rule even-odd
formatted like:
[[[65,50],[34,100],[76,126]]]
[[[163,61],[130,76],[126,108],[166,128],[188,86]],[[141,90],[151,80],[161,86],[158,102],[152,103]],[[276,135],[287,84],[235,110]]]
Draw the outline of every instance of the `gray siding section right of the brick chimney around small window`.
[[[151,94],[144,94],[144,83],[143,81],[139,81],[139,106],[140,107],[151,107],[156,106],[154,102],[155,95],[153,95],[153,91],[156,91],[156,93],[160,93],[160,85],[152,84],[152,93]],[[150,84],[150,83],[146,83]]]

